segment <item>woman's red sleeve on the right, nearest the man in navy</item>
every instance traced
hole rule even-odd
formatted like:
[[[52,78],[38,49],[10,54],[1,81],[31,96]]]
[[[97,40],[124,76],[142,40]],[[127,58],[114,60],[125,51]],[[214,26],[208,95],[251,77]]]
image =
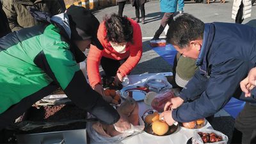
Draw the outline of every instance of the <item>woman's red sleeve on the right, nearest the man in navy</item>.
[[[138,64],[142,55],[142,36],[139,24],[134,24],[133,27],[133,43],[130,45],[130,56],[128,59],[118,68],[118,72],[122,76],[128,75],[132,69]]]

